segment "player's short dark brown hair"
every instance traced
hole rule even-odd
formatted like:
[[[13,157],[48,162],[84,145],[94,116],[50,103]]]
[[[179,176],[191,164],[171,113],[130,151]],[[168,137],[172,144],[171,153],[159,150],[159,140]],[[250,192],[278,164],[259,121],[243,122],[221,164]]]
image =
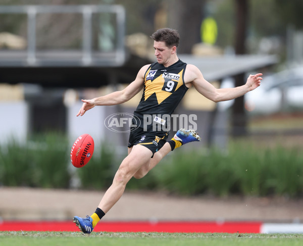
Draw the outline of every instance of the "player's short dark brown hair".
[[[177,30],[171,28],[161,28],[154,32],[151,36],[154,41],[163,41],[165,42],[166,46],[179,46],[180,42],[180,34]]]

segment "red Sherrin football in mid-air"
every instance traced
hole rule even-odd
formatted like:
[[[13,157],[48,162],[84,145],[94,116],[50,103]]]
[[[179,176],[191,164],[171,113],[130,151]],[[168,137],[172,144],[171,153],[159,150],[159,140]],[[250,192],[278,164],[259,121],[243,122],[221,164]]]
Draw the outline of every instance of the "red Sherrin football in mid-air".
[[[74,142],[71,150],[71,162],[75,167],[84,167],[93,154],[94,142],[89,134],[82,134]]]

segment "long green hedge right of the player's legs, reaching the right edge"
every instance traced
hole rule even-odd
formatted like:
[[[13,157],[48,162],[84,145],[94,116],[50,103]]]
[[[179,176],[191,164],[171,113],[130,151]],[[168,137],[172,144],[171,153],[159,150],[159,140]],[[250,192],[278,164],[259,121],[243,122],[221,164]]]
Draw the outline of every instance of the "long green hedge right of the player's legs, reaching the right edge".
[[[228,153],[178,152],[152,172],[157,188],[181,194],[303,195],[301,151],[280,146],[259,149],[238,143]]]

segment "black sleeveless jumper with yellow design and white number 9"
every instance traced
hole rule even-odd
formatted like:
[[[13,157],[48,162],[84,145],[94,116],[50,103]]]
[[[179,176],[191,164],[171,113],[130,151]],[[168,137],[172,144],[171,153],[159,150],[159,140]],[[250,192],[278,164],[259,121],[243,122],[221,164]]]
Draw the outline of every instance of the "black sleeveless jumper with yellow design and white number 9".
[[[161,122],[163,116],[170,116],[174,112],[188,89],[184,83],[186,65],[181,60],[169,67],[164,67],[156,62],[146,70],[143,95],[134,112],[134,115],[140,119],[140,127],[143,128],[144,126],[146,129],[146,116],[148,116],[148,122],[152,119],[153,124],[147,124],[147,131],[153,130],[155,124],[158,124],[157,131],[159,131],[159,128],[160,131],[167,131],[162,130],[162,128],[164,126],[165,129],[169,128],[169,120],[161,124],[159,122]],[[158,121],[155,116],[158,117]]]

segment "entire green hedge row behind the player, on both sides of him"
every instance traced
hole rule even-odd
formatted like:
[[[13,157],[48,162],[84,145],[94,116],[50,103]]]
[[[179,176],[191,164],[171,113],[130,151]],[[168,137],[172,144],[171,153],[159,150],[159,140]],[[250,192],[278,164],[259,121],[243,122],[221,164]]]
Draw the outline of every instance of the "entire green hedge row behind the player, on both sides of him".
[[[71,165],[70,149],[67,137],[60,134],[43,134],[26,144],[12,140],[0,146],[0,184],[68,188],[72,175],[77,175],[82,188],[106,189],[111,185],[121,162],[113,152],[114,147],[95,144],[93,157],[80,169]],[[226,152],[177,149],[144,178],[132,178],[127,185],[128,189],[166,190],[185,195],[291,197],[302,196],[302,187],[300,150],[281,146],[261,148],[249,143],[231,143]]]

